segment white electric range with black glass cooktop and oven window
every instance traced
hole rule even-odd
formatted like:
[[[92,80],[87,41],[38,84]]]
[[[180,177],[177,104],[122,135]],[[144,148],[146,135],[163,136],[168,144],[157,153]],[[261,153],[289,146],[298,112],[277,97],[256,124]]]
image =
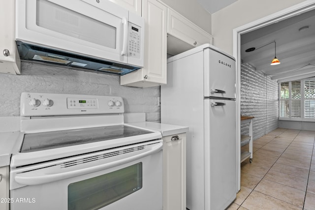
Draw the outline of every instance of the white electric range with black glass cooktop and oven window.
[[[117,96],[22,93],[11,210],[162,210],[161,133],[122,113]]]

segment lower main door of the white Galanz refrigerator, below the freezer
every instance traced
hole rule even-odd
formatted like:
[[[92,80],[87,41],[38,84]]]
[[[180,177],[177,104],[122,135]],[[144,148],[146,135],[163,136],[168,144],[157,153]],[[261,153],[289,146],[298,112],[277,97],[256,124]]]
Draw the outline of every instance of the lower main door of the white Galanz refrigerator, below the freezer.
[[[236,198],[236,102],[204,100],[205,210],[223,210]]]

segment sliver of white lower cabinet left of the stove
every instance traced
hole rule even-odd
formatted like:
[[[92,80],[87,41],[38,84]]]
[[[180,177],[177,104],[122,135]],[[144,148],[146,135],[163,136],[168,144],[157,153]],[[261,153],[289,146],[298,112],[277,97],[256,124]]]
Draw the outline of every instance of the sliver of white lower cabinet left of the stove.
[[[9,210],[9,166],[0,167],[0,210]]]

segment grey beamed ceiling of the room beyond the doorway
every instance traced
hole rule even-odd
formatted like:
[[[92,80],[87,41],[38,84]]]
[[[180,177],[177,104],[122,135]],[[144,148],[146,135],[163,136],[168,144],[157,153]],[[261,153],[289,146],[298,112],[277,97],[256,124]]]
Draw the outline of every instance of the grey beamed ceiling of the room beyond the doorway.
[[[299,31],[302,27],[309,28]],[[272,41],[279,65],[270,65],[275,57],[275,44],[268,44]],[[256,50],[245,52],[251,47]],[[315,76],[315,10],[242,34],[241,59],[273,80]]]

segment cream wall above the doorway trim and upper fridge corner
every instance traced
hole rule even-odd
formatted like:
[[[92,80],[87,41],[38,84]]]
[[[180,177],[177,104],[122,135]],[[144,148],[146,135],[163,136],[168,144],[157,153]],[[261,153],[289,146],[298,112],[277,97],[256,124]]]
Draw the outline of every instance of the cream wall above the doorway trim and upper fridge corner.
[[[214,45],[232,55],[232,31],[304,0],[237,0],[212,14]]]

